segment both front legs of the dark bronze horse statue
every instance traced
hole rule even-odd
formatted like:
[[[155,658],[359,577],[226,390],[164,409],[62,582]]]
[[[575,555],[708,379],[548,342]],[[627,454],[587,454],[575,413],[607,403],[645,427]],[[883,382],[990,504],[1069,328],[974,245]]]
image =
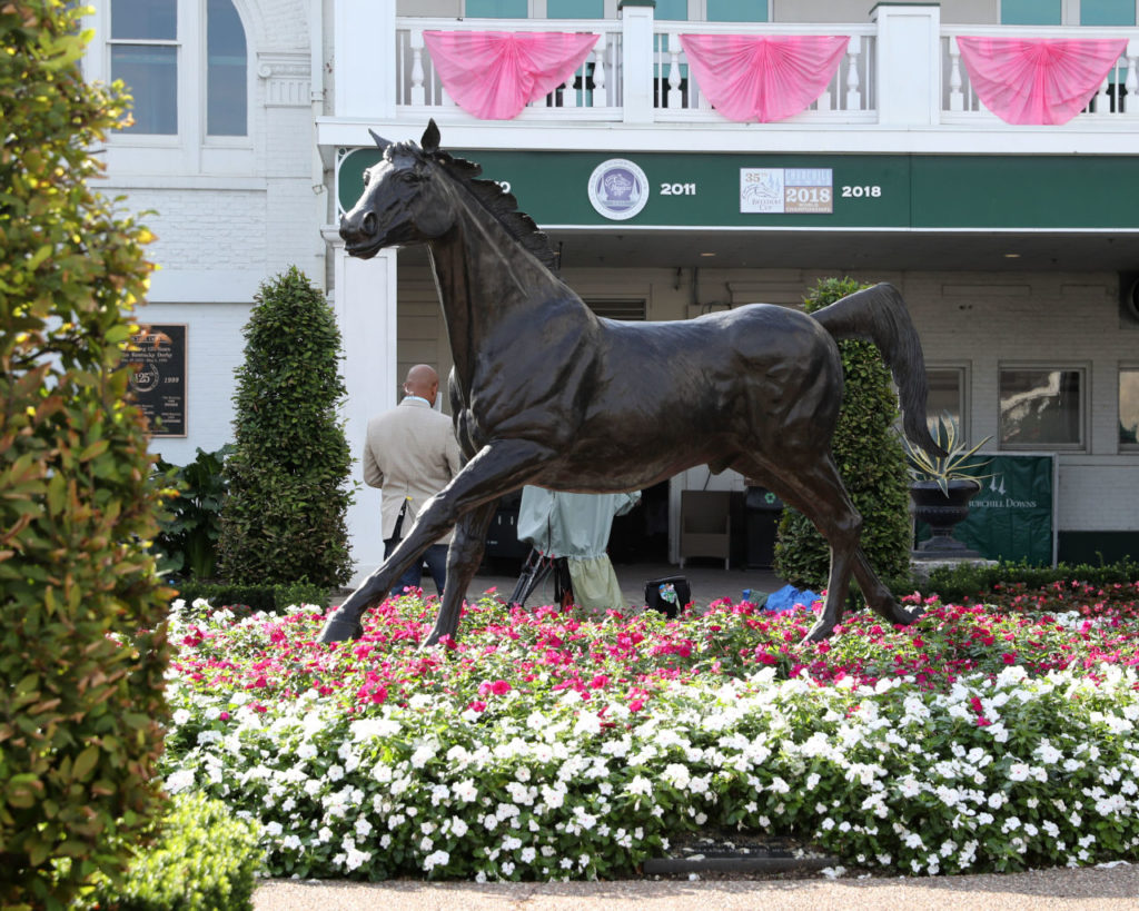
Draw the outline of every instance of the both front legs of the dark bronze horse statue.
[[[462,597],[466,594],[466,583],[470,581],[470,576],[478,567],[477,560],[482,558],[482,547],[478,548],[477,558],[472,556],[474,548],[469,536],[475,531],[475,522],[483,519],[485,533],[485,525],[490,522],[490,515],[493,515],[494,502],[503,493],[525,484],[534,476],[536,468],[551,456],[546,446],[524,440],[502,440],[483,446],[462,470],[451,478],[450,484],[424,504],[416,524],[411,527],[411,533],[399,543],[383,566],[368,576],[328,618],[319,641],[343,642],[347,639],[359,639],[363,634],[361,624],[363,612],[387,597],[395,581],[413,560],[419,559],[419,555],[432,542],[446,534],[467,514],[480,510],[478,517],[457,531],[457,540],[461,537],[465,541],[464,547],[456,551],[452,541],[448,551],[448,584],[431,641],[437,641],[444,634],[453,635],[459,623]],[[483,516],[482,510],[487,503],[490,514]],[[467,574],[467,577],[457,585],[452,585],[450,578],[452,559],[459,560],[456,566],[456,581],[459,582],[458,577]],[[473,567],[472,559],[475,559]],[[446,630],[448,626],[451,629]]]

